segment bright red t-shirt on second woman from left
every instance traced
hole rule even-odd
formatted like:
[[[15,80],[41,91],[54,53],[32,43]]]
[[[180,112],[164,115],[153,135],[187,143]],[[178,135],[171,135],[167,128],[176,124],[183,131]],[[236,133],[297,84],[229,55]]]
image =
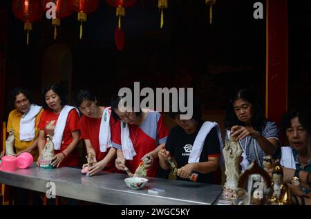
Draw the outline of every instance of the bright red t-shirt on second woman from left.
[[[54,135],[54,129],[58,120],[59,114],[53,113],[53,111],[46,110],[42,113],[40,122],[39,122],[39,129],[44,130],[44,133],[47,135],[51,133]],[[51,129],[47,130],[46,126],[51,124]],[[47,132],[48,131],[48,132]],[[63,133],[62,145],[60,150],[55,150],[54,154],[61,153],[64,151],[68,145],[73,141],[73,135],[71,132],[79,131],[79,115],[75,109],[71,110],[68,113],[66,126]],[[78,152],[74,149],[67,157],[62,161],[59,166],[77,166],[78,165]]]

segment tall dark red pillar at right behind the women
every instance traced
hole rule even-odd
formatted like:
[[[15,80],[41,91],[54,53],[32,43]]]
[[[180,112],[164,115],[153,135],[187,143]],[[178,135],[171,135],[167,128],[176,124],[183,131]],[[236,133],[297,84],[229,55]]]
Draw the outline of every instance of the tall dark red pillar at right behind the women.
[[[265,115],[281,125],[288,110],[288,0],[267,0]]]

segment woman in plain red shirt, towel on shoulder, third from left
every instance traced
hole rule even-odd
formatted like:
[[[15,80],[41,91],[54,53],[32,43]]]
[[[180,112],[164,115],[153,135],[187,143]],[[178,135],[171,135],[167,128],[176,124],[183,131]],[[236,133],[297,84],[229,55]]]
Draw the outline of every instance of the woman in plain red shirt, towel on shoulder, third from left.
[[[111,147],[111,136],[113,136],[116,121],[111,116],[111,109],[98,106],[95,95],[88,89],[80,90],[79,93],[77,93],[75,104],[83,113],[79,124],[81,128],[81,138],[84,139],[86,151],[87,153],[93,153],[93,155],[95,155],[95,164],[88,168],[88,174],[92,176],[100,171],[116,172],[116,149]],[[110,120],[108,121],[108,119]],[[104,121],[108,121],[106,126],[102,124]],[[100,131],[102,135],[109,132],[107,135],[110,137],[107,137],[106,143],[100,140]],[[88,164],[84,164],[83,168],[87,165]]]

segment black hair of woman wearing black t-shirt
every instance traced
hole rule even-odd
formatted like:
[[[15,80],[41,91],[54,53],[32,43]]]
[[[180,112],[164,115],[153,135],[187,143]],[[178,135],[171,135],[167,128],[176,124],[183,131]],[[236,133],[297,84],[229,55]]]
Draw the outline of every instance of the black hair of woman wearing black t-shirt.
[[[192,112],[192,117],[190,120],[196,120],[197,122],[201,120],[202,117],[202,109],[201,109],[201,102],[200,99],[197,97],[192,98],[192,106],[193,106],[193,112]],[[187,93],[185,93],[185,106],[189,106],[188,100],[187,100]],[[173,111],[173,105],[170,105],[169,109],[169,116],[173,119],[176,118],[177,115],[185,115],[186,112],[180,111],[179,107],[179,98],[178,98],[178,107],[177,107],[177,112]]]

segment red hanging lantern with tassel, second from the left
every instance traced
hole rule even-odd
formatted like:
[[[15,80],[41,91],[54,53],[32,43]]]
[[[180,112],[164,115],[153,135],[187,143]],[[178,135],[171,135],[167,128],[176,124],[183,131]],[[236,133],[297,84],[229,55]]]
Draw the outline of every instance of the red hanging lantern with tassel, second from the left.
[[[55,3],[56,17],[52,19],[52,25],[54,26],[54,39],[56,39],[57,36],[57,26],[60,26],[60,19],[70,16],[72,13],[69,1],[70,0],[41,0],[41,5],[44,10],[48,10],[48,8],[46,8],[47,3]]]

